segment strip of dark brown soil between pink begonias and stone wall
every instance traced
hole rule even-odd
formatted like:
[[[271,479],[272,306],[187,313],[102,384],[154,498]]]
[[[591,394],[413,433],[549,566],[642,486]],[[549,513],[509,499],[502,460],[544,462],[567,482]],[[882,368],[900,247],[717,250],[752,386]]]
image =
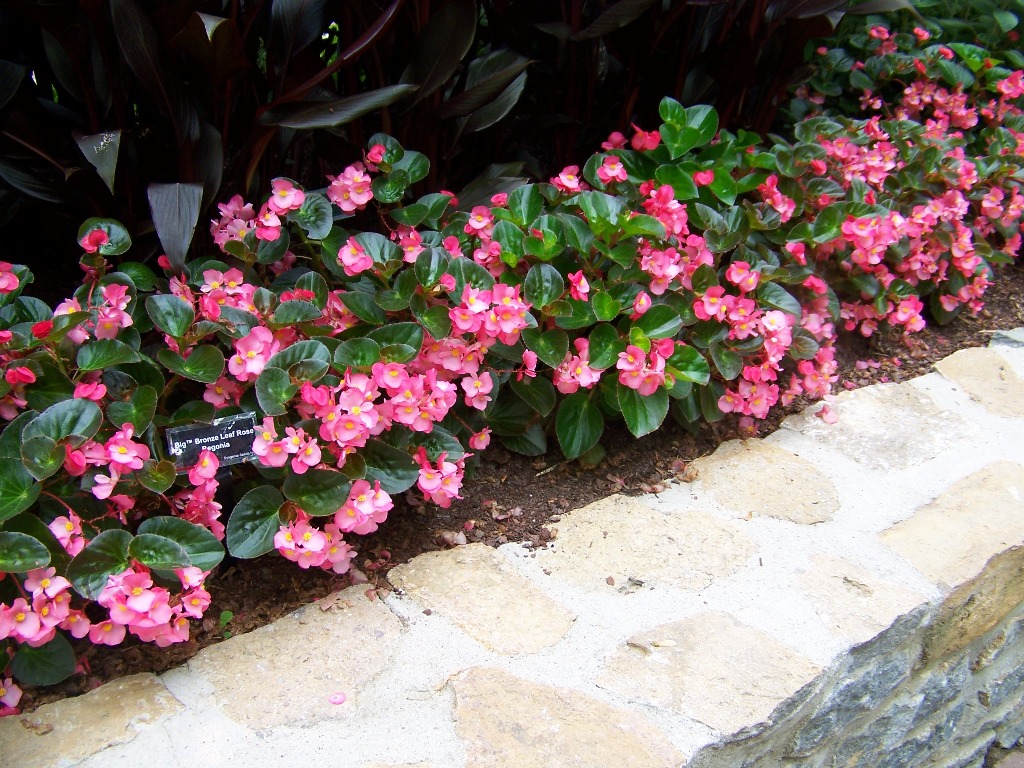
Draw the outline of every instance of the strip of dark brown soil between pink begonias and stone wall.
[[[877,382],[899,382],[928,373],[933,362],[957,349],[986,346],[996,330],[1024,326],[1024,268],[1006,267],[986,295],[978,317],[964,317],[944,328],[929,326],[909,345],[900,336],[876,335],[870,339],[844,335],[838,358],[838,391],[845,382],[860,387]],[[858,369],[858,360],[874,360],[879,368]],[[806,401],[779,409],[760,425],[765,435]],[[671,422],[671,420],[670,420]],[[450,509],[422,507],[396,500],[389,519],[374,536],[355,542],[359,571],[368,580],[368,599],[390,589],[387,571],[412,557],[465,542],[498,546],[528,542],[543,547],[557,536],[559,516],[614,493],[656,493],[672,479],[692,479],[688,465],[711,454],[724,440],[739,436],[735,419],[703,425],[691,435],[667,422],[657,433],[636,439],[625,429],[606,432],[602,443],[607,455],[596,467],[565,462],[556,453],[539,459],[521,457],[501,446],[488,449],[472,477],[467,477],[463,499]],[[350,584],[348,574],[303,571],[274,555],[255,561],[228,558],[207,583],[213,604],[207,618],[193,627],[187,643],[158,648],[126,640],[117,648],[90,646],[86,671],[47,689],[27,688],[24,711],[75,695],[123,675],[159,673],[176,667],[207,645],[231,634],[249,632]]]

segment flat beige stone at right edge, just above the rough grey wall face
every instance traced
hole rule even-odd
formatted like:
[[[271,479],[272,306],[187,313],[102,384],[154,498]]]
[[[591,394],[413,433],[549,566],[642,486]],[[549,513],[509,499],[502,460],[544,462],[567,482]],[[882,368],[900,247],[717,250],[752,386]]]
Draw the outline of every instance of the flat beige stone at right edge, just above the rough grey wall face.
[[[990,464],[881,537],[935,584],[955,587],[1024,543],[1024,466]]]

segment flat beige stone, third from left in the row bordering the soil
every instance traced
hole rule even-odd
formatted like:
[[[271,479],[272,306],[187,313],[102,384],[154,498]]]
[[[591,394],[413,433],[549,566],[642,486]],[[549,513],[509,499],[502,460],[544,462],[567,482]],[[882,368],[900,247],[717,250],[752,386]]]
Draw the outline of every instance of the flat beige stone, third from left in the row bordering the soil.
[[[506,655],[554,645],[575,621],[571,611],[482,544],[428,552],[393,568],[388,579],[477,642]]]

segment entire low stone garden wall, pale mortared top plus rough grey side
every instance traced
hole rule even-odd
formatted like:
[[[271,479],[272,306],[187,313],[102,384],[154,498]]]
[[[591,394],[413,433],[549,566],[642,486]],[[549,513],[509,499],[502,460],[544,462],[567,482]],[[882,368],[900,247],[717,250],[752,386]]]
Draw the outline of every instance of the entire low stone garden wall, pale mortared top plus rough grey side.
[[[6,718],[0,762],[980,766],[1024,735],[1024,331],[936,369]]]

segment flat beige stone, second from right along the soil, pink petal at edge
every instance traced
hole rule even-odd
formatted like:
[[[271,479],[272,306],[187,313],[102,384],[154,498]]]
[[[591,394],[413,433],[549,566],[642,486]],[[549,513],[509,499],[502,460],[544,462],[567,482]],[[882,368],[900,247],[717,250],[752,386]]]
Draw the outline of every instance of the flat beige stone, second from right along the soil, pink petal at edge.
[[[841,392],[833,410],[836,424],[814,416],[815,409],[791,416],[782,427],[835,447],[870,469],[904,469],[923,464],[965,433],[967,423],[941,412],[911,383],[876,384]]]

